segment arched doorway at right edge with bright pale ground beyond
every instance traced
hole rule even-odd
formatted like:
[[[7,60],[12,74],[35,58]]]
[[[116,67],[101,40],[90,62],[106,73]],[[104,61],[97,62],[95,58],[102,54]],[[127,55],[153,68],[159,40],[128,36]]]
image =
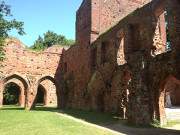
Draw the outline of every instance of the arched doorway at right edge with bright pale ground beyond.
[[[176,103],[179,102],[180,95],[174,95],[174,93],[180,94],[179,86],[180,80],[172,75],[169,75],[161,82],[157,102],[158,117],[161,125],[166,124],[168,120],[180,119],[180,108],[176,108],[178,104],[173,103],[173,100],[176,100]]]

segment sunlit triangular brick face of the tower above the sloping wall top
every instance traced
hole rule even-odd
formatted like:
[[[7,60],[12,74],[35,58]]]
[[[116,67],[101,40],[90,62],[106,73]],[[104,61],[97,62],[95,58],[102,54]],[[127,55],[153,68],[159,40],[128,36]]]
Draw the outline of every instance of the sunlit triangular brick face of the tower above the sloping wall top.
[[[138,7],[141,7],[144,2],[145,0],[101,0],[100,33],[115,25]]]

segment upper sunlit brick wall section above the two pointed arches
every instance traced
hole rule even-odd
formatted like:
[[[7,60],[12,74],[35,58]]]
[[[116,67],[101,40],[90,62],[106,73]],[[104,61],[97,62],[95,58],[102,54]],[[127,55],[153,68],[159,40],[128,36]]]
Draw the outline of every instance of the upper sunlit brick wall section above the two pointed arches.
[[[26,75],[55,74],[62,48],[52,47],[44,52],[25,49],[17,40],[8,41],[5,46],[6,59],[3,62],[3,74],[18,72]]]

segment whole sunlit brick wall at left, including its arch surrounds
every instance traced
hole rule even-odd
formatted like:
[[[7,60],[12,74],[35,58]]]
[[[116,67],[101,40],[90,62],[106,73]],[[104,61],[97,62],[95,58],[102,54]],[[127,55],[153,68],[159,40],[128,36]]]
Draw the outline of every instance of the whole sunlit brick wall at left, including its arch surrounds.
[[[17,39],[8,39],[5,45],[6,58],[1,68],[1,96],[6,84],[13,82],[20,86],[20,105],[30,109],[35,105],[38,86],[45,90],[45,105],[57,106],[57,67],[63,48],[54,46],[43,52],[27,50]],[[56,87],[55,87],[56,85]],[[3,98],[0,98],[2,106]]]

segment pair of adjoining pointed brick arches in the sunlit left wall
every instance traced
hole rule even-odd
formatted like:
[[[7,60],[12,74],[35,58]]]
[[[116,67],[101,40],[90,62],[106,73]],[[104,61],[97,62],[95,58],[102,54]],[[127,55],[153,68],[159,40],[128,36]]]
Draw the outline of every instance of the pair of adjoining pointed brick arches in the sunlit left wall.
[[[27,109],[36,105],[57,107],[57,87],[54,78],[45,76],[41,79],[37,84],[33,84],[34,91],[31,92],[30,84],[21,76],[13,74],[5,78],[1,86],[0,105],[16,104]]]

